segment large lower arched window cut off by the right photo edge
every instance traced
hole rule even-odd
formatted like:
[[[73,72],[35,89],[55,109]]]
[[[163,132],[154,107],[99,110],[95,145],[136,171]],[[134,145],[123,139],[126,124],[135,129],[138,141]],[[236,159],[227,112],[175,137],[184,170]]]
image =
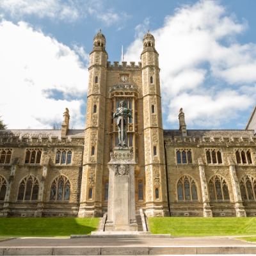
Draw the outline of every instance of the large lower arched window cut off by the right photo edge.
[[[243,200],[256,200],[256,180],[245,175],[240,181],[241,196]]]

